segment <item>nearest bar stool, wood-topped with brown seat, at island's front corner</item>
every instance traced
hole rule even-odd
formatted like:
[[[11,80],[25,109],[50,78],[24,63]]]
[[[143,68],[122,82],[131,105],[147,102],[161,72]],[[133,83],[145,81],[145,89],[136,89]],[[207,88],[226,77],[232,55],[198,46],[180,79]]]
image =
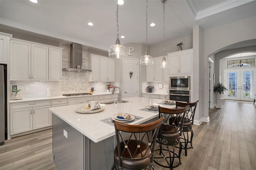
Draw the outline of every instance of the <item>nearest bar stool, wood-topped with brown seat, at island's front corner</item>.
[[[163,118],[144,125],[114,121],[117,146],[112,170],[152,170],[156,136]]]

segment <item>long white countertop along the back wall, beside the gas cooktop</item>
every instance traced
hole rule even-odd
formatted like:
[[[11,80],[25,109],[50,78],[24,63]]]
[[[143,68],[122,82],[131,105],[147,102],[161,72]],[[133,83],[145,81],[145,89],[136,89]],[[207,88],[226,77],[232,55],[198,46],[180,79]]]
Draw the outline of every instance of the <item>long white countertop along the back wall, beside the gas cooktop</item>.
[[[118,94],[118,93],[114,93]],[[99,95],[112,95],[112,93],[94,93],[92,95],[85,95],[85,96],[54,96],[54,97],[31,97],[31,98],[23,98],[20,100],[10,100],[10,103],[19,103],[19,102],[26,102],[26,101],[42,101],[42,100],[53,100],[53,99],[68,99],[68,98],[75,98],[75,97],[90,97],[90,96],[99,96]]]

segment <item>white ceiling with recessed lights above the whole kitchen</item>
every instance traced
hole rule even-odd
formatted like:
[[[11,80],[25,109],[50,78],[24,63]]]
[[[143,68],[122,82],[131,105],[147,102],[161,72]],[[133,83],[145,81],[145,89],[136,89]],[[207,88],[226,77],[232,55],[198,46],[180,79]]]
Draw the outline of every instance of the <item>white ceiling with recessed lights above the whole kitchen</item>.
[[[146,0],[119,6],[119,35],[146,44]],[[165,40],[256,16],[255,0],[167,0]],[[93,22],[94,26],[88,26]],[[148,45],[163,41],[163,3],[148,0]],[[108,50],[116,40],[116,0],[0,0],[0,24]]]

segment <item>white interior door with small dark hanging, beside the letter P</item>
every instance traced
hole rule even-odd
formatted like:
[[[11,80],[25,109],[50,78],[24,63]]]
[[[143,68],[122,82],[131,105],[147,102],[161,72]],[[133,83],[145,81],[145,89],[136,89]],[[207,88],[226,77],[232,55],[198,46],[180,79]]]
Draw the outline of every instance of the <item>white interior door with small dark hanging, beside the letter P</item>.
[[[124,59],[124,98],[138,96],[138,59]]]

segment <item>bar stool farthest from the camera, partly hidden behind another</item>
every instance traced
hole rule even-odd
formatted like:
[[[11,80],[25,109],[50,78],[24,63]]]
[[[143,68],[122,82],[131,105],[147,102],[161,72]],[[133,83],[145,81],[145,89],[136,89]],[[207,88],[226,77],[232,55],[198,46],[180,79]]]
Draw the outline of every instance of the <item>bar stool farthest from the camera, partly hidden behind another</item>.
[[[186,115],[185,115],[184,123],[183,123],[182,134],[183,134],[184,138],[181,138],[184,140],[184,142],[181,142],[181,143],[182,143],[182,149],[185,150],[185,156],[188,155],[187,149],[193,148],[192,139],[194,136],[194,132],[192,129],[192,125],[194,124],[194,115],[195,115],[196,106],[197,106],[198,102],[199,102],[199,100],[196,102],[193,102],[193,103],[182,103],[182,102],[176,101],[176,108],[183,108],[183,107],[186,107],[186,105],[189,105],[189,107],[186,111]],[[171,123],[171,122],[169,122],[169,123]],[[190,139],[189,139],[188,132],[190,132]],[[183,143],[184,143],[184,145],[183,145]],[[190,147],[188,147],[189,143],[190,143]]]

